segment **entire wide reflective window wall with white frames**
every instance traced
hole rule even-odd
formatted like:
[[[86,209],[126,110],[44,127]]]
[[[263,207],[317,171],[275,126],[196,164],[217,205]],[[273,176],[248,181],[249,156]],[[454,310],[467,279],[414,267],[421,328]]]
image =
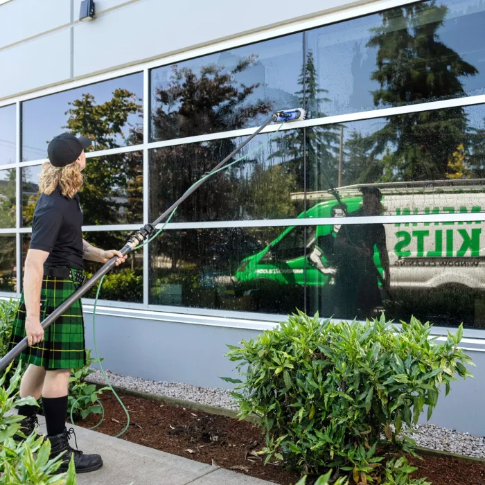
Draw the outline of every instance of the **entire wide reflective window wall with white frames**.
[[[84,237],[119,249],[275,110],[302,107],[310,119],[258,134],[100,297],[485,328],[482,3],[408,3],[1,107],[0,291],[19,291],[56,134],[94,141]]]

